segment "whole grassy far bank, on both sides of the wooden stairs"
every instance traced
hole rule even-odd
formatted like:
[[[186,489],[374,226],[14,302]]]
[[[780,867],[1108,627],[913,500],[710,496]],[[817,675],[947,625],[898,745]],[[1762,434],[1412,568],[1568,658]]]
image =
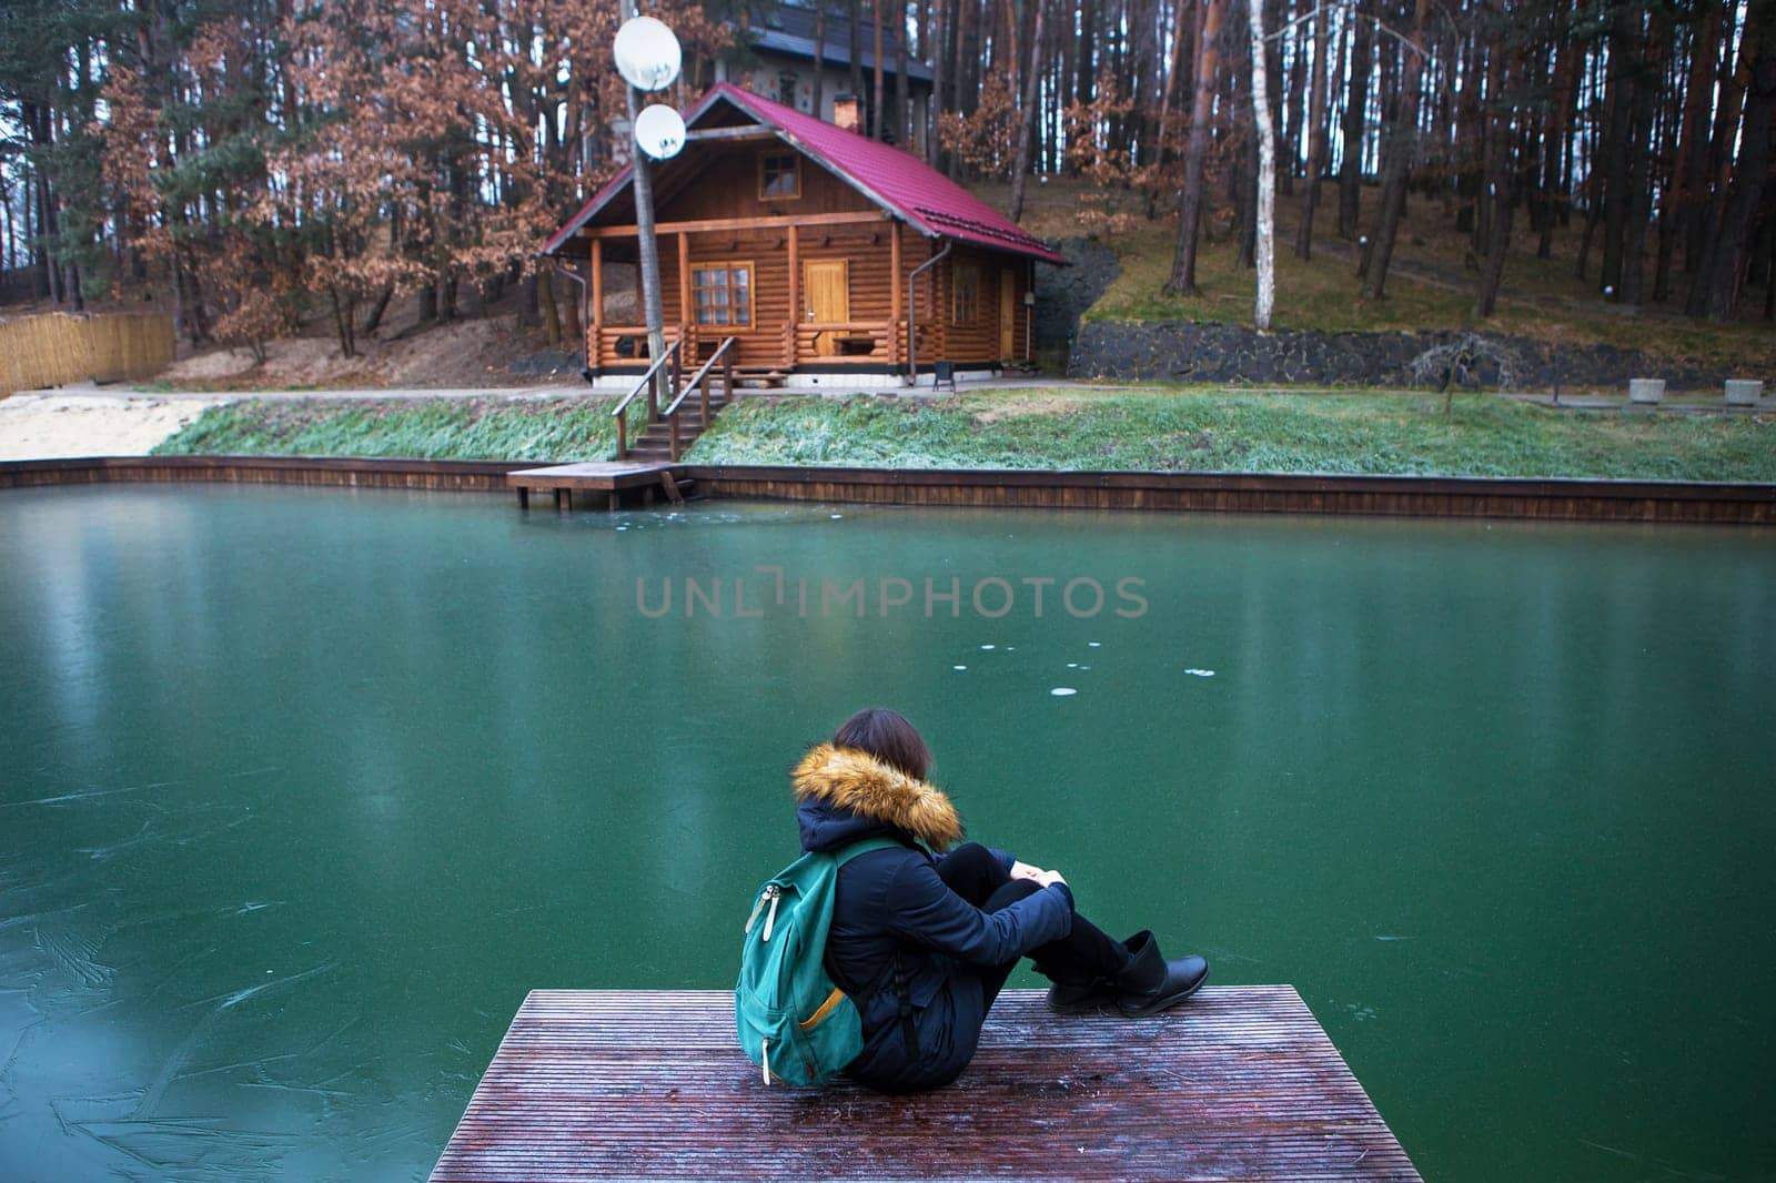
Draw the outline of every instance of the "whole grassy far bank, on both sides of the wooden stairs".
[[[586,398],[247,400],[156,453],[606,460]],[[748,396],[689,464],[1776,481],[1776,416],[1552,410],[1495,394],[1030,389]]]

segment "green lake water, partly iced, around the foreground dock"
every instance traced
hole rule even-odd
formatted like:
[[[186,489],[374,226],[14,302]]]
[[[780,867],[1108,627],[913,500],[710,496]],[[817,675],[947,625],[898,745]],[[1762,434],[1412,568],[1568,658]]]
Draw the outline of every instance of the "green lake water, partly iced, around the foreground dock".
[[[526,989],[732,984],[861,705],[1426,1178],[1776,1178],[1767,531],[11,490],[0,673],[5,1178],[423,1179]]]

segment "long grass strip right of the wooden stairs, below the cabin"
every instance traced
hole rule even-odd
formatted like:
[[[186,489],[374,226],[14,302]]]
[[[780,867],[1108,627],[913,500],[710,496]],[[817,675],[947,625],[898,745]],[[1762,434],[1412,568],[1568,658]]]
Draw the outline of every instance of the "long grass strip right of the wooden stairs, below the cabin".
[[[748,398],[691,464],[1776,481],[1776,419],[1552,410],[1492,394],[991,391]]]

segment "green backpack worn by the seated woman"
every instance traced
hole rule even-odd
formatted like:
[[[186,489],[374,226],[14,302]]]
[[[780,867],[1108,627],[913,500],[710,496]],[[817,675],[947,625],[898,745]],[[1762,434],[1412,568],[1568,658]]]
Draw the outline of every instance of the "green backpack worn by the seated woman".
[[[803,854],[758,890],[746,918],[733,1025],[765,1084],[826,1084],[863,1052],[863,1018],[826,973],[826,934],[838,869],[893,846],[868,838],[836,854]]]

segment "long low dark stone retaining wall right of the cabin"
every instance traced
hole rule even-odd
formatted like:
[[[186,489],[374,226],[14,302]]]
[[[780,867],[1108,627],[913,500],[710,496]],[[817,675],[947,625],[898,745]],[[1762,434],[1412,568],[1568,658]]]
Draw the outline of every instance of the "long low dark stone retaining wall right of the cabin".
[[[1412,361],[1462,334],[1444,332],[1309,332],[1279,329],[1259,334],[1240,325],[1186,322],[1089,322],[1067,357],[1069,378],[1140,378],[1153,382],[1249,382],[1277,385],[1421,385]],[[1561,345],[1487,334],[1518,359],[1517,389],[1625,391],[1629,378],[1664,378],[1673,391],[1721,391],[1726,378],[1776,375],[1739,373],[1648,357],[1613,345]],[[1558,362],[1558,364],[1556,364]],[[1481,366],[1478,384],[1490,387],[1495,368]]]

